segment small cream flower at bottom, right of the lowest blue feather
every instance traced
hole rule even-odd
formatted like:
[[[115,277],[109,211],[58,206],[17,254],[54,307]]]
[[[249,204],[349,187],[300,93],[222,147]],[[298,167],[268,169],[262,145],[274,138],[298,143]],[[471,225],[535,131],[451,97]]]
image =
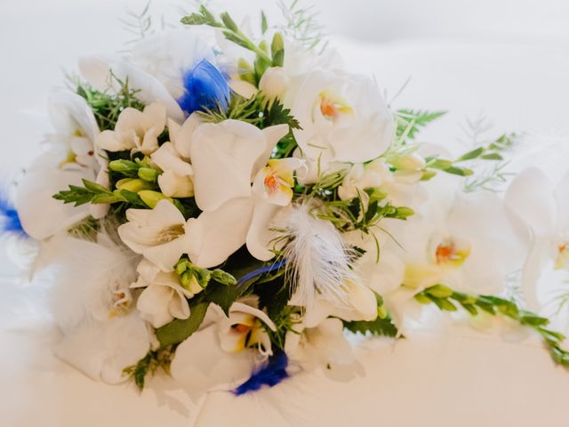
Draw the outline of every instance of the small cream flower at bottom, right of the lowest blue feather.
[[[311,327],[301,321],[294,323],[293,330],[286,333],[284,352],[306,370],[349,366],[355,361],[339,318],[325,318]]]

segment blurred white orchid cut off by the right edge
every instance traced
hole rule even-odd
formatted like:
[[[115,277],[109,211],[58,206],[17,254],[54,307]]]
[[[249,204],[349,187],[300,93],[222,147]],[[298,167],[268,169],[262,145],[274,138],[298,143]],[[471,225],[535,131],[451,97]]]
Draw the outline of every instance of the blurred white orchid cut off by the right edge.
[[[554,183],[540,169],[529,168],[512,181],[505,201],[518,234],[530,244],[522,285],[537,310],[541,275],[569,270],[569,173]]]

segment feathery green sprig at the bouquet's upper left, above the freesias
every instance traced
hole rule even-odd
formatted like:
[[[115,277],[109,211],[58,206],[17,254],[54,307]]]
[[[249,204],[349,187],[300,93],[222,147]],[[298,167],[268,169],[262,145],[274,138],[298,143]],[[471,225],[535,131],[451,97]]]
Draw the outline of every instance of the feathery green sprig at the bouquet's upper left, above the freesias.
[[[142,110],[145,107],[144,102],[136,96],[140,91],[131,89],[128,79],[121,80],[112,73],[109,78],[109,83],[118,86],[116,93],[100,92],[81,82],[77,82],[76,88],[76,93],[82,96],[92,109],[101,131],[115,129],[116,120],[123,109],[131,107]]]

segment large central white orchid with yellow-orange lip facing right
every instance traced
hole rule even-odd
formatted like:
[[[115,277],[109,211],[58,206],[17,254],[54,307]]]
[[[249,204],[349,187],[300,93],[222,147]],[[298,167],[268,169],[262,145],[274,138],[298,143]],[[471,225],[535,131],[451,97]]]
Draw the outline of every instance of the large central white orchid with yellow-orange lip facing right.
[[[268,261],[278,221],[289,205],[293,171],[299,159],[268,160],[288,125],[262,131],[236,120],[200,125],[190,141],[202,246],[190,260],[204,268],[224,262],[245,243],[256,258]],[[253,182],[253,183],[252,183]]]

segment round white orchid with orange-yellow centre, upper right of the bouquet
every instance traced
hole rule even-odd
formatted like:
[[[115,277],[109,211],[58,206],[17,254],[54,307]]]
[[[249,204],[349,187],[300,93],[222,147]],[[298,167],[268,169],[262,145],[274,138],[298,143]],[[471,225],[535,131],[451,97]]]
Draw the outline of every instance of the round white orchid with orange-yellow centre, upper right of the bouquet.
[[[394,119],[373,80],[316,69],[293,85],[285,103],[301,123],[294,136],[312,162],[363,163],[393,142]]]

